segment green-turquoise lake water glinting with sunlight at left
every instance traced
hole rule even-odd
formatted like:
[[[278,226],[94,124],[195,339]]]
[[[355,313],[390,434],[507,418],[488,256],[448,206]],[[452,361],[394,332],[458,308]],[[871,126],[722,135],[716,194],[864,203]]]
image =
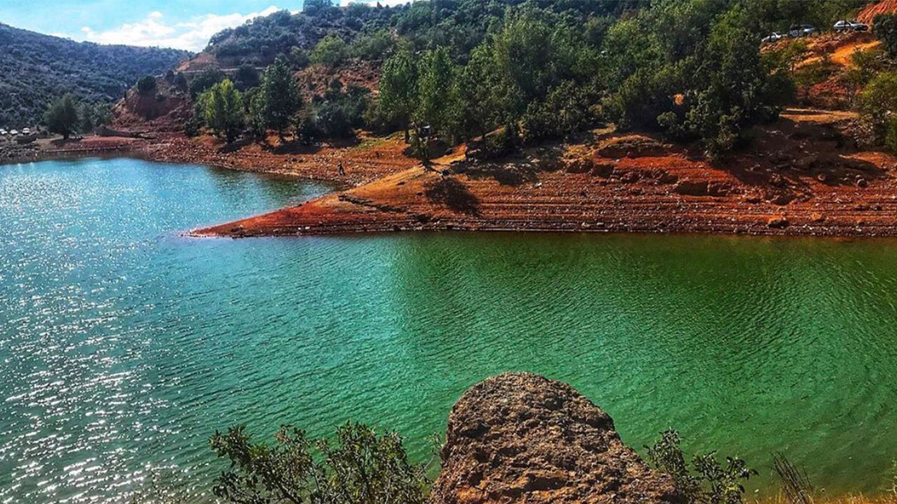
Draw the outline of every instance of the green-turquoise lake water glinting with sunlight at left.
[[[897,458],[897,241],[580,234],[187,239],[328,188],[134,160],[0,167],[0,502],[212,500],[215,429],[365,421],[415,460],[476,381],[570,382],[830,495]],[[774,491],[774,489],[773,489]]]

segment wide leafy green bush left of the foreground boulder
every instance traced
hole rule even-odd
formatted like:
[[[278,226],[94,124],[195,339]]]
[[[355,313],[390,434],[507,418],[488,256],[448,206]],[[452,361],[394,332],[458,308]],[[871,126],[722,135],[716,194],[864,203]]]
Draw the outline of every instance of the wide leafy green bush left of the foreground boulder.
[[[239,503],[422,504],[423,467],[408,462],[402,439],[379,435],[358,423],[337,430],[335,440],[309,439],[283,426],[274,444],[256,443],[242,427],[215,432],[210,444],[230,466],[213,493]]]

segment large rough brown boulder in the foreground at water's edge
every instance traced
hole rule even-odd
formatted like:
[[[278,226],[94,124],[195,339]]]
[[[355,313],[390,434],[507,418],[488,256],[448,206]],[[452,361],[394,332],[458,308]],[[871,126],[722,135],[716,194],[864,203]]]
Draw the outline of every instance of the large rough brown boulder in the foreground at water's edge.
[[[684,502],[672,478],[623,444],[607,413],[537,375],[471,387],[446,438],[431,504]]]

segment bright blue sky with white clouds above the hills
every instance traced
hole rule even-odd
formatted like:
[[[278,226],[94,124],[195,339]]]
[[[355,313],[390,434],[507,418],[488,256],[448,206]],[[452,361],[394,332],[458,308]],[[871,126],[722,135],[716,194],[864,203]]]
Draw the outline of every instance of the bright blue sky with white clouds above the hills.
[[[361,0],[376,2],[376,0]],[[380,0],[400,4],[410,0]],[[0,0],[0,22],[98,44],[200,51],[209,38],[303,0]],[[347,4],[349,0],[340,0]]]

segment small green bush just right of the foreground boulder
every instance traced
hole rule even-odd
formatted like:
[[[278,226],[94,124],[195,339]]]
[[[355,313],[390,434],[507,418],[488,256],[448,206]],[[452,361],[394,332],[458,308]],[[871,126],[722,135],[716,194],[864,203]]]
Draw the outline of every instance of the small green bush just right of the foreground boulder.
[[[682,439],[679,433],[669,429],[648,448],[648,458],[659,471],[673,476],[679,490],[690,504],[741,504],[745,487],[741,484],[757,474],[738,457],[726,457],[726,465],[720,465],[716,452],[692,458],[685,462]]]

